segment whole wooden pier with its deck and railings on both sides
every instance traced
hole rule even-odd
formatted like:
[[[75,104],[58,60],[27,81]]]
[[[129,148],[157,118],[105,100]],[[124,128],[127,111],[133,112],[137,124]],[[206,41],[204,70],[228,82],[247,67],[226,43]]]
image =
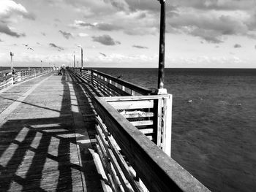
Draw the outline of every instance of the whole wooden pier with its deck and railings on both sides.
[[[0,191],[208,191],[171,158],[170,94],[91,69],[11,78]]]

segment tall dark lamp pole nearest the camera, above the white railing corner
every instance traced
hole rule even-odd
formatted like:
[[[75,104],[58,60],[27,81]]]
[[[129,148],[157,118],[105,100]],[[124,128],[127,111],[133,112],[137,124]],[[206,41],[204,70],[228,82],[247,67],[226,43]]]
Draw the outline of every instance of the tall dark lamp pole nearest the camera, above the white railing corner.
[[[159,34],[159,68],[158,89],[164,89],[165,82],[165,0],[159,0],[161,4],[160,34]],[[159,91],[162,92],[162,91]],[[163,92],[166,92],[163,90]]]

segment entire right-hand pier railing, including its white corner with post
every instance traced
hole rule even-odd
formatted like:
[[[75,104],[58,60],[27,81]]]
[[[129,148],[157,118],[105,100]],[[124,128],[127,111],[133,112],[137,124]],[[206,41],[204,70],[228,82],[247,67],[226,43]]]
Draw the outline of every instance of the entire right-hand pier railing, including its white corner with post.
[[[172,95],[94,70],[69,71],[102,92],[93,99],[97,151],[113,191],[208,191],[170,158]]]

